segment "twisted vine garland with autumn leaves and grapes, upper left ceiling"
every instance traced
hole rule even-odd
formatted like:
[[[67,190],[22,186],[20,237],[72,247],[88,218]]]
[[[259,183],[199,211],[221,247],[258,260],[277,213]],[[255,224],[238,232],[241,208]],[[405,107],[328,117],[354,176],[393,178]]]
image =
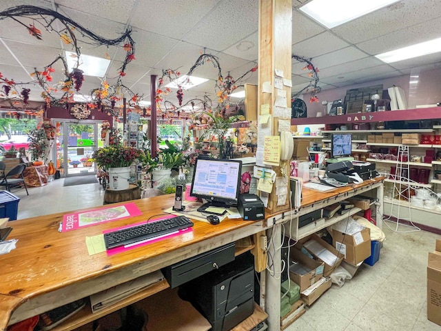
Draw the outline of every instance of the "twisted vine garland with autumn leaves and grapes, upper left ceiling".
[[[125,92],[129,92],[130,89],[125,87],[121,82],[121,77],[125,76],[125,70],[131,61],[135,59],[135,42],[132,39],[132,30],[127,28],[119,37],[115,39],[107,39],[100,37],[94,32],[88,30],[87,28],[81,26],[81,24],[73,21],[69,17],[60,14],[55,10],[48,8],[40,8],[37,6],[16,6],[3,10],[0,12],[0,20],[2,19],[12,19],[20,23],[25,27],[28,32],[35,38],[41,40],[44,37],[44,31],[48,33],[56,33],[59,35],[61,41],[65,46],[70,46],[75,52],[76,65],[72,72],[69,72],[68,65],[62,55],[59,55],[52,63],[45,66],[42,71],[35,69],[32,76],[36,78],[36,82],[43,88],[42,97],[45,99],[48,106],[65,106],[68,103],[73,103],[74,91],[79,92],[81,86],[83,85],[84,76],[82,70],[79,67],[79,57],[81,55],[81,48],[79,46],[79,41],[82,43],[88,43],[96,46],[115,46],[121,47],[125,50],[125,59],[123,64],[119,68],[119,77],[116,77],[116,83],[112,88],[107,86],[107,93],[104,96],[103,86],[101,88],[96,88],[90,93],[92,97],[98,95],[99,99],[96,99],[93,103],[90,103],[90,108],[98,108],[103,111],[105,108],[114,107],[114,102],[119,101]],[[32,24],[26,25],[21,21],[22,18],[31,18]],[[57,28],[61,25],[61,28]],[[43,31],[43,32],[42,32]],[[107,54],[103,54],[107,59],[110,57]],[[54,63],[61,61],[64,68],[64,81],[55,83],[50,86],[52,82],[52,72],[54,72]],[[0,74],[1,75],[1,74]],[[0,81],[5,83],[3,85],[4,96],[14,97],[15,99],[21,99],[23,103],[26,103],[29,96],[29,89],[23,89],[20,92],[20,96],[17,95],[17,85],[34,83],[34,81],[26,83],[16,83],[13,80]],[[10,95],[10,92],[14,95]],[[59,97],[59,92],[63,92],[61,97]],[[138,100],[134,98],[134,93],[129,92],[130,99]],[[135,102],[136,102],[135,101]],[[94,105],[94,107],[92,106]]]

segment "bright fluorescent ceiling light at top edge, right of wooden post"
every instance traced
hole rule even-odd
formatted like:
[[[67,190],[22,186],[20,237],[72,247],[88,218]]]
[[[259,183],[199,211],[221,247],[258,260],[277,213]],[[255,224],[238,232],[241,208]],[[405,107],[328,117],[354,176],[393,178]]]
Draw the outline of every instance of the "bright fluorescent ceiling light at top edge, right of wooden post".
[[[400,0],[313,0],[300,7],[302,12],[331,29]]]

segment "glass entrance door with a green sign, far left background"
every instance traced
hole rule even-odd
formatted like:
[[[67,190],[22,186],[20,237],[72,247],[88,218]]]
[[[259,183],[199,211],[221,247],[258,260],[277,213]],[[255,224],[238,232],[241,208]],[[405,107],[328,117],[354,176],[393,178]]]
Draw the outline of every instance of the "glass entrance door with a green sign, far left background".
[[[57,169],[61,176],[94,174],[92,154],[98,146],[98,122],[57,121]]]

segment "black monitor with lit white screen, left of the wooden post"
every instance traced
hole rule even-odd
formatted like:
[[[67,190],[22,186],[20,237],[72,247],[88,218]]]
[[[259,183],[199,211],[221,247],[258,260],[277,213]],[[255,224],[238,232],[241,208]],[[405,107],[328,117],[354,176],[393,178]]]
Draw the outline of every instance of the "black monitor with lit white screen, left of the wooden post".
[[[205,212],[213,206],[228,208],[237,205],[241,175],[240,160],[197,159],[190,196],[207,200],[198,211]]]

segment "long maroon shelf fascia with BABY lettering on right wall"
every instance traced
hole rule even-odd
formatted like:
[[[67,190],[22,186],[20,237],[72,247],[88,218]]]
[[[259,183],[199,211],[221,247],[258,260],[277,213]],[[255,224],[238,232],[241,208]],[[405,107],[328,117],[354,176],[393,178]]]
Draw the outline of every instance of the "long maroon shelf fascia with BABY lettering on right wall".
[[[420,121],[421,119],[439,119],[440,107],[393,110],[387,112],[364,112],[324,117],[305,117],[291,119],[291,126],[311,124],[347,124],[347,123],[375,123],[384,121]],[[387,130],[391,132],[391,130]],[[413,130],[413,132],[416,132]]]

